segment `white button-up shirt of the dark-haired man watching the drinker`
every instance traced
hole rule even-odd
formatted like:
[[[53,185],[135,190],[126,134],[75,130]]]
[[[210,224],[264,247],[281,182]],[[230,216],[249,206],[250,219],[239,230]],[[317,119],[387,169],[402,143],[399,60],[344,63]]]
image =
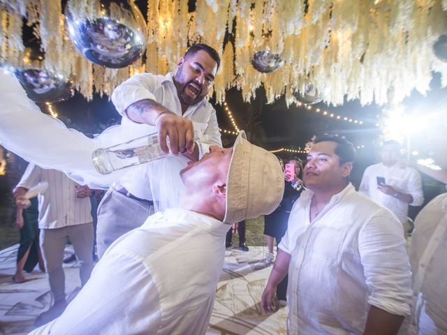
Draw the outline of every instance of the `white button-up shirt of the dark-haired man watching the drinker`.
[[[288,334],[362,334],[368,305],[410,313],[411,272],[402,225],[349,184],[312,222],[313,193],[293,205],[279,248],[288,268]]]

